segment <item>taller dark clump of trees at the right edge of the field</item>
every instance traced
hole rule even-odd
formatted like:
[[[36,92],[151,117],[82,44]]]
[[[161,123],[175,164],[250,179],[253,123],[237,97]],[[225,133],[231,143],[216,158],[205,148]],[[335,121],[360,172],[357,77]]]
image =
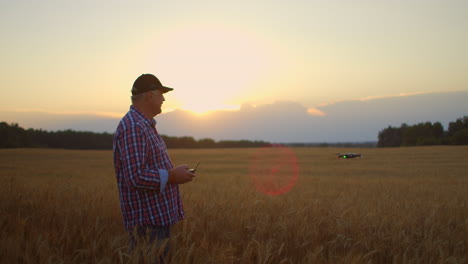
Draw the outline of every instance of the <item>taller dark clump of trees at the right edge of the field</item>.
[[[403,123],[379,132],[378,147],[468,145],[468,116],[449,123],[447,131],[440,122],[425,122],[413,126]]]

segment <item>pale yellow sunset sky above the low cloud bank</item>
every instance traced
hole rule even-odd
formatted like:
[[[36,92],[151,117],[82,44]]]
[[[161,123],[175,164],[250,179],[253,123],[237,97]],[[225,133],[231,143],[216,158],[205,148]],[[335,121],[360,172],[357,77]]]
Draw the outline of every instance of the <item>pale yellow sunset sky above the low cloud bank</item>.
[[[120,118],[142,73],[175,88],[164,114],[205,119],[281,102],[326,118],[343,102],[468,91],[466,10],[464,0],[0,0],[0,121]]]

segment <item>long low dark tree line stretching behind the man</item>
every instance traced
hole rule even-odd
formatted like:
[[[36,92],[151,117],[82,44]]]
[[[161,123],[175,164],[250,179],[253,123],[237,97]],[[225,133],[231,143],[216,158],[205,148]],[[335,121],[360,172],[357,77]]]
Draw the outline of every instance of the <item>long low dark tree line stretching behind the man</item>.
[[[64,130],[49,132],[0,122],[0,148],[112,149],[113,134]],[[249,148],[268,145],[264,141],[224,140],[161,135],[168,148]]]

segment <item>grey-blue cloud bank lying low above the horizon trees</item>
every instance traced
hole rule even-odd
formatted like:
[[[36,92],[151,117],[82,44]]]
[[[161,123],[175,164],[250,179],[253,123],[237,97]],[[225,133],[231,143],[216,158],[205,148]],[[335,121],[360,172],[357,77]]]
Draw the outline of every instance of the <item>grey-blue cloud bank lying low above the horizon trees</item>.
[[[376,141],[380,130],[402,123],[451,121],[468,115],[468,91],[383,96],[341,101],[307,108],[298,102],[244,104],[239,110],[196,115],[175,110],[156,117],[158,131],[196,139],[265,140],[270,142]],[[123,114],[122,114],[123,115]],[[98,113],[57,114],[46,111],[0,111],[0,121],[47,130],[114,132],[122,115]]]

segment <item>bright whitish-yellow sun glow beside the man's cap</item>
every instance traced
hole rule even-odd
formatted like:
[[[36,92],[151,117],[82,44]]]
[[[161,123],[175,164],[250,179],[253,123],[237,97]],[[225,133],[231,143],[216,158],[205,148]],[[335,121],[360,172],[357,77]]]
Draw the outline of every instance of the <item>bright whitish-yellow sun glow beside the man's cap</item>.
[[[151,63],[174,87],[177,108],[198,114],[239,109],[271,74],[275,57],[271,42],[225,25],[175,27],[155,43]]]

